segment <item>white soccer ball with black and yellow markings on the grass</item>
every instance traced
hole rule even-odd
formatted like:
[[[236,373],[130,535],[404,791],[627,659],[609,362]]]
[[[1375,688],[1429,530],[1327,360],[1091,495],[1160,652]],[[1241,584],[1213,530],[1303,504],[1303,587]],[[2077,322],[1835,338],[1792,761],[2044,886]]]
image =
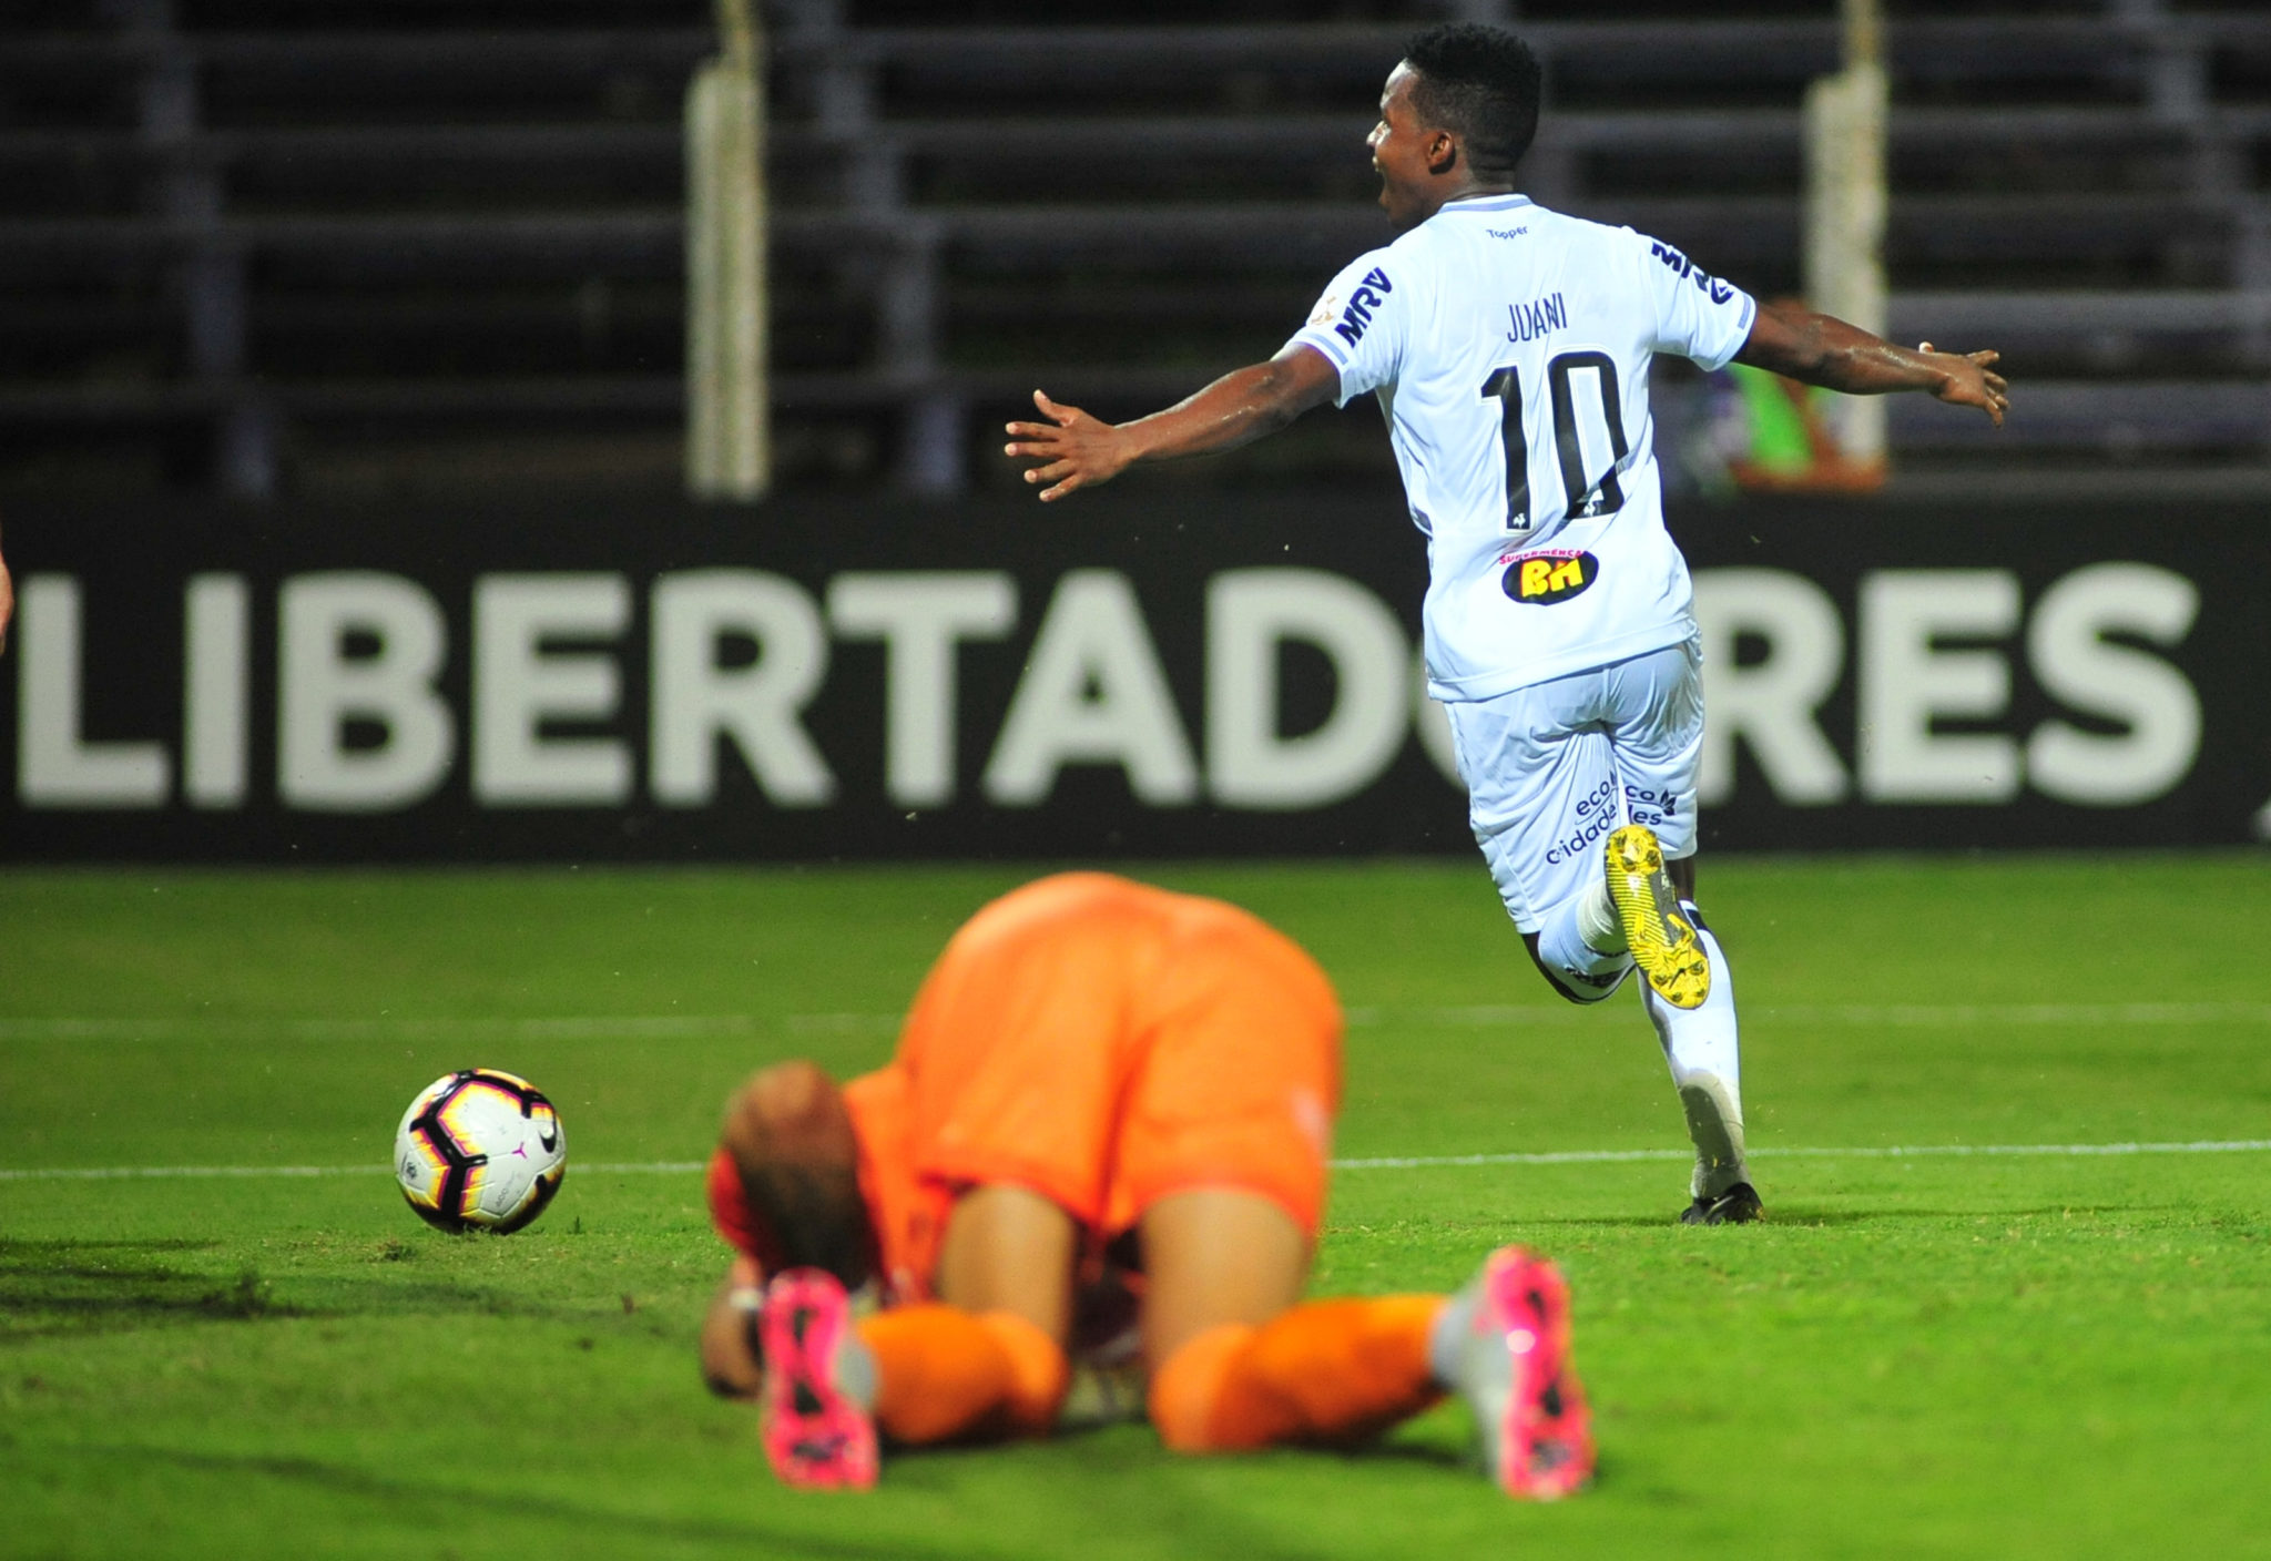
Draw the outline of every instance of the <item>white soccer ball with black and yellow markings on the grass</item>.
[[[395,1180],[441,1230],[520,1230],[568,1175],[561,1114],[525,1078],[461,1069],[418,1091],[395,1130]]]

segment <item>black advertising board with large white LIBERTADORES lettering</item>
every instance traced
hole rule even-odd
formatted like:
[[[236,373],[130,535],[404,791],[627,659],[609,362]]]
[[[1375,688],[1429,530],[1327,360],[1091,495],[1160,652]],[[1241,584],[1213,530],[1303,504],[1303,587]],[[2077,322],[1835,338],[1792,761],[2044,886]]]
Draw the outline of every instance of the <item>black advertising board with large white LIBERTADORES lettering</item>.
[[[2260,837],[2253,511],[1674,533],[1708,849]],[[25,504],[7,556],[7,860],[1472,849],[1415,669],[1424,542],[1374,497]]]

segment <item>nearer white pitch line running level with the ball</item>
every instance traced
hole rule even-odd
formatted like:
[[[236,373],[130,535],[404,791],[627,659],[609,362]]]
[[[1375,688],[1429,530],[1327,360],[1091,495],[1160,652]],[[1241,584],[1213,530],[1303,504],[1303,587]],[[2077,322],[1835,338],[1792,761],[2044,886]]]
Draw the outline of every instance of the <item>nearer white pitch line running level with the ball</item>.
[[[1755,1159],[1933,1159],[1967,1155],[2064,1155],[2098,1159],[2107,1155],[2246,1155],[2271,1150],[2271,1139],[2198,1139],[2192,1144],[1892,1144],[1860,1148],[1753,1148]],[[1447,1166],[1599,1166],[1626,1159],[1692,1159],[1674,1148],[1569,1148],[1508,1155],[1388,1155],[1378,1159],[1335,1159],[1335,1171],[1431,1171]],[[577,1166],[584,1175],[695,1175],[699,1159],[643,1159]],[[300,1175],[386,1175],[388,1166],[84,1166],[84,1168],[5,1168],[0,1182],[120,1182],[141,1178],[300,1178]]]

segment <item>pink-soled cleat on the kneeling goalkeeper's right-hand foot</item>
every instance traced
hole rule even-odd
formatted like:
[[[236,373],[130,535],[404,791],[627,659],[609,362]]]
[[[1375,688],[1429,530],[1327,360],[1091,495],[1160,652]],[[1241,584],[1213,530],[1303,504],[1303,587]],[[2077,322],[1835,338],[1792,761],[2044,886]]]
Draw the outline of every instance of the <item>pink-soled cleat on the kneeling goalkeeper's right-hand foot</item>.
[[[1551,1502],[1592,1479],[1592,1416],[1569,1361],[1569,1284],[1544,1257],[1503,1246],[1467,1286],[1460,1395],[1483,1461],[1508,1495]]]

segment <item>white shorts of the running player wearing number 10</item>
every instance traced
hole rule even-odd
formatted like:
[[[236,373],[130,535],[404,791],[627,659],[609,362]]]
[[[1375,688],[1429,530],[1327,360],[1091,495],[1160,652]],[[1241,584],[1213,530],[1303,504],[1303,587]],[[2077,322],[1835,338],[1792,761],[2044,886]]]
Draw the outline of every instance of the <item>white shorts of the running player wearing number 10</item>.
[[[1444,715],[1474,844],[1524,933],[1601,876],[1601,842],[1624,824],[1656,830],[1665,858],[1694,853],[1703,753],[1694,644],[1447,703]]]

